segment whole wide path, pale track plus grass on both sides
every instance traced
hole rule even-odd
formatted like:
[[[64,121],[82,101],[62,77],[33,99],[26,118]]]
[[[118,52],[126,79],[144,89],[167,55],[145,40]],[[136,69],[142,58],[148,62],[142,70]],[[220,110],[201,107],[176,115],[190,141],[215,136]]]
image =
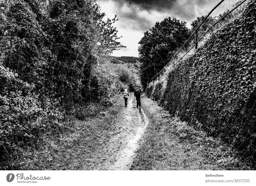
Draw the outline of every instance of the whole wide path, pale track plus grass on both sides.
[[[76,132],[63,136],[68,144],[56,153],[48,170],[216,170],[203,143],[181,140],[171,129],[167,111],[147,97],[136,108],[133,93],[124,107],[122,95],[116,104],[95,118],[76,122]],[[177,133],[177,131],[176,131]],[[184,136],[185,134],[182,133]],[[58,146],[58,145],[56,145]],[[62,145],[63,146],[63,145]],[[208,150],[207,150],[208,149]]]

